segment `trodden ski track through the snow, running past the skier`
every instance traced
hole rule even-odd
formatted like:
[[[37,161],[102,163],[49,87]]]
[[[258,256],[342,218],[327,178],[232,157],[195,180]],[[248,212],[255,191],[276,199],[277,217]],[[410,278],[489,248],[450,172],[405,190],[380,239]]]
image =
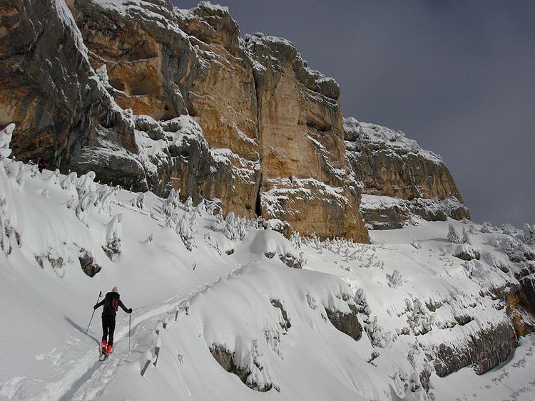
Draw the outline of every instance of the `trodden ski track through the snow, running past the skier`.
[[[143,336],[147,335],[151,330],[156,330],[158,326],[160,326],[161,329],[161,322],[167,315],[169,315],[168,327],[172,326],[173,323],[178,321],[175,321],[175,313],[178,311],[178,314],[176,315],[177,318],[182,318],[185,316],[185,308],[188,306],[190,301],[193,301],[195,296],[198,296],[208,288],[212,288],[213,286],[217,285],[224,278],[229,278],[230,276],[239,274],[241,271],[243,271],[243,269],[245,269],[246,266],[247,265],[238,265],[237,268],[231,269],[222,276],[218,276],[218,278],[215,278],[215,280],[201,284],[195,288],[194,291],[191,291],[189,296],[176,296],[175,298],[171,298],[160,306],[151,308],[138,318],[135,318],[132,322],[131,345],[135,346],[138,343],[137,340],[139,338],[143,338]],[[120,368],[125,361],[128,363],[133,363],[136,359],[143,359],[144,352],[141,350],[136,350],[135,348],[133,348],[132,351],[141,353],[141,355],[138,358],[131,358],[132,353],[127,350],[127,337],[128,327],[123,327],[118,330],[113,338],[113,342],[115,343],[113,353],[104,361],[98,360],[99,355],[97,355],[97,350],[86,353],[86,355],[83,357],[83,360],[89,360],[93,362],[93,364],[87,370],[83,371],[81,375],[78,375],[78,377],[68,377],[68,381],[71,384],[69,382],[63,382],[61,385],[58,385],[58,387],[68,387],[68,390],[61,395],[58,400],[95,400],[103,395],[103,392],[106,390],[106,386],[108,383],[113,381],[113,378],[117,374],[118,368]]]

